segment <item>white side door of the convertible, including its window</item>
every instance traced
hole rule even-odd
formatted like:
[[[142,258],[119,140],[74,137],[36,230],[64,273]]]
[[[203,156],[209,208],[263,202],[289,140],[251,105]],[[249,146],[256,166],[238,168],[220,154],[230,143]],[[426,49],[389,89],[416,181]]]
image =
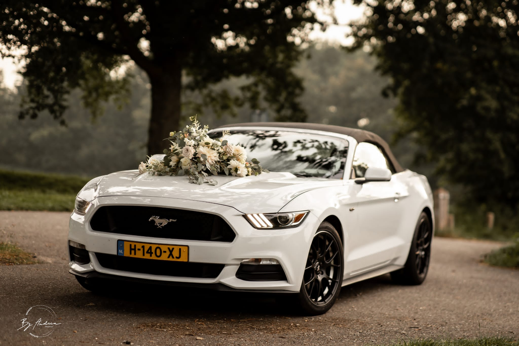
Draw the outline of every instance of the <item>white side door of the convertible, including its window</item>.
[[[347,276],[354,276],[383,267],[397,256],[402,246],[398,237],[403,210],[400,201],[407,197],[406,185],[398,174],[389,182],[356,184],[354,179],[364,176],[368,167],[387,168],[394,173],[390,161],[374,144],[357,145],[353,158],[352,199],[357,202],[357,227],[350,231],[350,252],[346,258]]]

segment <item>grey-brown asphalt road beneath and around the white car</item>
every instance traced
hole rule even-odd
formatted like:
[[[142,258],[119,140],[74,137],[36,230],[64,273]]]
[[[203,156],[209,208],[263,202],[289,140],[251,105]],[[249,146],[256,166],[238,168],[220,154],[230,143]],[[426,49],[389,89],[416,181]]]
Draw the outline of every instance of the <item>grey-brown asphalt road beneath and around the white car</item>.
[[[94,295],[67,272],[68,217],[0,211],[0,241],[17,242],[45,261],[0,266],[0,344],[363,345],[480,334],[519,338],[519,271],[480,262],[500,243],[435,238],[424,284],[398,286],[389,275],[380,276],[343,287],[332,310],[309,317],[293,314],[282,297],[255,294],[120,286],[118,293]],[[18,329],[37,305],[50,307],[52,321],[60,323],[48,329],[49,336]]]

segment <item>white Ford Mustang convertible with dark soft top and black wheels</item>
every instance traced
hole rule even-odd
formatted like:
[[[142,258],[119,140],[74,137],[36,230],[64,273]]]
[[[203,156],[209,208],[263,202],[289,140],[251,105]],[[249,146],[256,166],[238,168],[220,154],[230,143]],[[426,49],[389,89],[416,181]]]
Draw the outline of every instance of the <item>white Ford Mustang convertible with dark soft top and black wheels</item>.
[[[78,193],[69,251],[81,285],[285,293],[320,314],[360,280],[425,280],[431,189],[379,136],[311,123],[241,123],[209,136],[224,130],[270,173],[218,174],[214,186],[132,170],[94,178]]]

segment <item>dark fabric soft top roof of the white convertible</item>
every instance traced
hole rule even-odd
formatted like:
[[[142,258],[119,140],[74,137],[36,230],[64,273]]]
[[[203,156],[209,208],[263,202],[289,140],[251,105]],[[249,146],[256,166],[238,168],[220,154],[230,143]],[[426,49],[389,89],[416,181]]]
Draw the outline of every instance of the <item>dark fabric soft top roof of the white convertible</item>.
[[[229,124],[225,126],[221,126],[221,128],[228,127],[278,127],[278,128],[292,128],[292,129],[304,129],[304,130],[316,130],[316,131],[326,131],[344,134],[350,137],[353,137],[357,142],[368,142],[375,144],[380,149],[384,151],[389,161],[394,167],[394,170],[399,173],[404,169],[398,163],[397,159],[394,157],[389,145],[381,139],[381,137],[373,132],[361,130],[361,129],[352,129],[343,126],[336,125],[325,125],[311,122],[242,122],[236,124]]]

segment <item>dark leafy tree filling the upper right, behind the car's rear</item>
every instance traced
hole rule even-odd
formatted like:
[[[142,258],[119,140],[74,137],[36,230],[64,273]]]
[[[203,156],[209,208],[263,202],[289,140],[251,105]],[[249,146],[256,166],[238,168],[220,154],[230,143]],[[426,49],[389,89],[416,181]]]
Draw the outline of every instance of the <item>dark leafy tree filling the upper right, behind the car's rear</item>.
[[[399,136],[479,202],[519,203],[517,0],[355,0],[352,26],[398,96]],[[420,159],[420,157],[417,157]]]

